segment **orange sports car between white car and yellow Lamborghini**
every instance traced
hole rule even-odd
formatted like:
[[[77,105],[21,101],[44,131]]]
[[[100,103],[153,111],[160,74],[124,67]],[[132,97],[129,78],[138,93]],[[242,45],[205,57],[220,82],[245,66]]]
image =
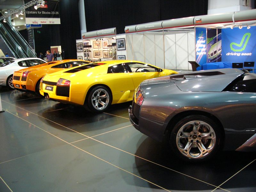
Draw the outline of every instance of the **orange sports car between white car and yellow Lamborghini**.
[[[91,63],[85,60],[60,60],[44,63],[41,65],[21,69],[13,74],[13,86],[16,90],[23,92],[39,93],[40,80],[50,73],[63,69],[72,68],[80,65]]]

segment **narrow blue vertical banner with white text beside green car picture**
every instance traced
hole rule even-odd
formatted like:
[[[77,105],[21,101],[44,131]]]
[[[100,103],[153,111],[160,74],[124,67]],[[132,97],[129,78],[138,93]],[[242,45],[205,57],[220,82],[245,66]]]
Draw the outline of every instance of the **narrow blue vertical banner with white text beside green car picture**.
[[[196,62],[206,63],[206,28],[196,28]]]

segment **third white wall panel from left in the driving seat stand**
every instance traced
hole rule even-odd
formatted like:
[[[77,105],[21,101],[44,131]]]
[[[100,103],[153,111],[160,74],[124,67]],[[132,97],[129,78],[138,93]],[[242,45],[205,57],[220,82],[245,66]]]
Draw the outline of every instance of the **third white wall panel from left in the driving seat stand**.
[[[155,60],[155,36],[144,35],[145,42],[145,63],[156,65]]]

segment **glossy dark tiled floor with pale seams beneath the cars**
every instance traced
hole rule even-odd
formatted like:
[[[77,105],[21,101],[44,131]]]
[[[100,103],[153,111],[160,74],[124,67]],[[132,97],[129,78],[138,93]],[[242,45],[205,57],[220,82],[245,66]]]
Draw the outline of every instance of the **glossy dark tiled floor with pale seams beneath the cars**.
[[[0,93],[1,192],[256,191],[256,153],[182,162],[131,125],[131,103],[92,114],[4,87]]]

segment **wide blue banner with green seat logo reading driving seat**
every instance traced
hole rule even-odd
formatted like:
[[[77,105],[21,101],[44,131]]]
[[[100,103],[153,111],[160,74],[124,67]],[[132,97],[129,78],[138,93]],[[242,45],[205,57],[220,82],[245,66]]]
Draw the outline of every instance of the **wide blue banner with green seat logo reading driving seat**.
[[[222,29],[222,61],[256,60],[256,27]]]

